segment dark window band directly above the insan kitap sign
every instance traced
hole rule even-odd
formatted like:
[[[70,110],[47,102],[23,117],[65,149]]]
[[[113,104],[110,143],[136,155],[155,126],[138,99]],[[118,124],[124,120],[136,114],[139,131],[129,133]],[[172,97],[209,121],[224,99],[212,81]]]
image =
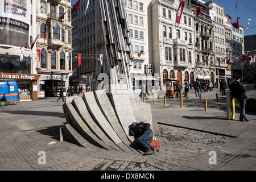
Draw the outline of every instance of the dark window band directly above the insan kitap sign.
[[[19,61],[18,56],[0,56],[0,72],[31,74],[31,58],[23,57]]]

